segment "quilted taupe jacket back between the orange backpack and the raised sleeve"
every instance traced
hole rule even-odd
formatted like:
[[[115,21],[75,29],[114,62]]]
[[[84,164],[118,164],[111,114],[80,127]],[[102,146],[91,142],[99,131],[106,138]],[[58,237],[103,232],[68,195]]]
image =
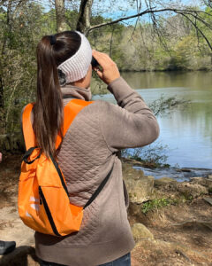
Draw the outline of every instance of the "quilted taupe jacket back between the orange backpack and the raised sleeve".
[[[110,156],[96,107],[94,103],[78,114],[64,137],[58,156],[70,200],[78,206],[84,206],[97,189],[102,181],[99,172]]]

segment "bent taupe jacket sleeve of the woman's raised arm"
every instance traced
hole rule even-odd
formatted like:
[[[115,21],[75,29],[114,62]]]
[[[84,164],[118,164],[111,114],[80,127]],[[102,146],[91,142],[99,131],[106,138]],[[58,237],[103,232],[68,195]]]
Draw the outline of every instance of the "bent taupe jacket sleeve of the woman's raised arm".
[[[159,136],[159,126],[140,95],[122,77],[111,82],[108,90],[118,105],[102,102],[100,110],[102,135],[110,151],[114,153],[154,142]]]

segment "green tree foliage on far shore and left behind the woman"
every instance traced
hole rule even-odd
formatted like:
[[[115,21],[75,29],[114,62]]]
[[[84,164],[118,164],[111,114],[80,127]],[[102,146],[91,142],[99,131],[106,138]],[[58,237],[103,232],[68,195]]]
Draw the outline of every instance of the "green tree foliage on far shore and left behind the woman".
[[[5,2],[5,1],[4,1]],[[35,1],[6,1],[0,6],[0,134],[19,130],[20,111],[34,101],[36,86],[36,45],[42,35],[57,31],[55,9],[46,10]],[[0,2],[1,3],[1,2]],[[204,35],[212,39],[212,10],[200,20],[175,15],[158,21],[159,31],[147,20],[136,27],[117,23],[89,32],[93,48],[110,54],[123,71],[163,71],[211,69],[212,55]],[[66,10],[69,29],[75,29],[78,9]],[[110,22],[101,15],[91,18],[91,26]],[[196,24],[195,24],[196,23]],[[162,35],[158,34],[163,31]]]

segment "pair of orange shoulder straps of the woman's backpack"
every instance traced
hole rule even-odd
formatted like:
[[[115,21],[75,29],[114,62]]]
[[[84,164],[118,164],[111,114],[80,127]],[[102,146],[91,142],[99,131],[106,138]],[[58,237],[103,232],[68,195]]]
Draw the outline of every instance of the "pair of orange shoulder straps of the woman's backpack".
[[[92,104],[93,101],[84,101],[81,99],[72,99],[66,106],[64,106],[64,135],[69,129],[75,116],[86,106]],[[30,120],[30,115],[33,110],[34,104],[28,104],[25,107],[24,113],[22,114],[22,127],[24,133],[24,139],[26,149],[36,146],[36,139],[34,135],[34,129]],[[57,135],[56,149],[61,143],[61,137]]]

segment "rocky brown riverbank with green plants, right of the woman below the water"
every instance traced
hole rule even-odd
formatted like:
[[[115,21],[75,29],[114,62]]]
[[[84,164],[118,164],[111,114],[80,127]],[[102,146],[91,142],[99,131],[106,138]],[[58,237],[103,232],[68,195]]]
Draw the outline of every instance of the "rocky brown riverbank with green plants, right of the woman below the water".
[[[124,175],[126,171],[125,165]],[[142,171],[130,172],[137,180],[149,178],[142,176]],[[128,175],[129,172],[126,183]],[[128,213],[137,242],[132,253],[134,266],[211,265],[212,176],[209,177],[193,177],[191,182],[183,183],[163,177],[155,180],[145,201],[139,195],[131,196]],[[136,183],[129,186],[131,193],[136,192],[131,190]]]

